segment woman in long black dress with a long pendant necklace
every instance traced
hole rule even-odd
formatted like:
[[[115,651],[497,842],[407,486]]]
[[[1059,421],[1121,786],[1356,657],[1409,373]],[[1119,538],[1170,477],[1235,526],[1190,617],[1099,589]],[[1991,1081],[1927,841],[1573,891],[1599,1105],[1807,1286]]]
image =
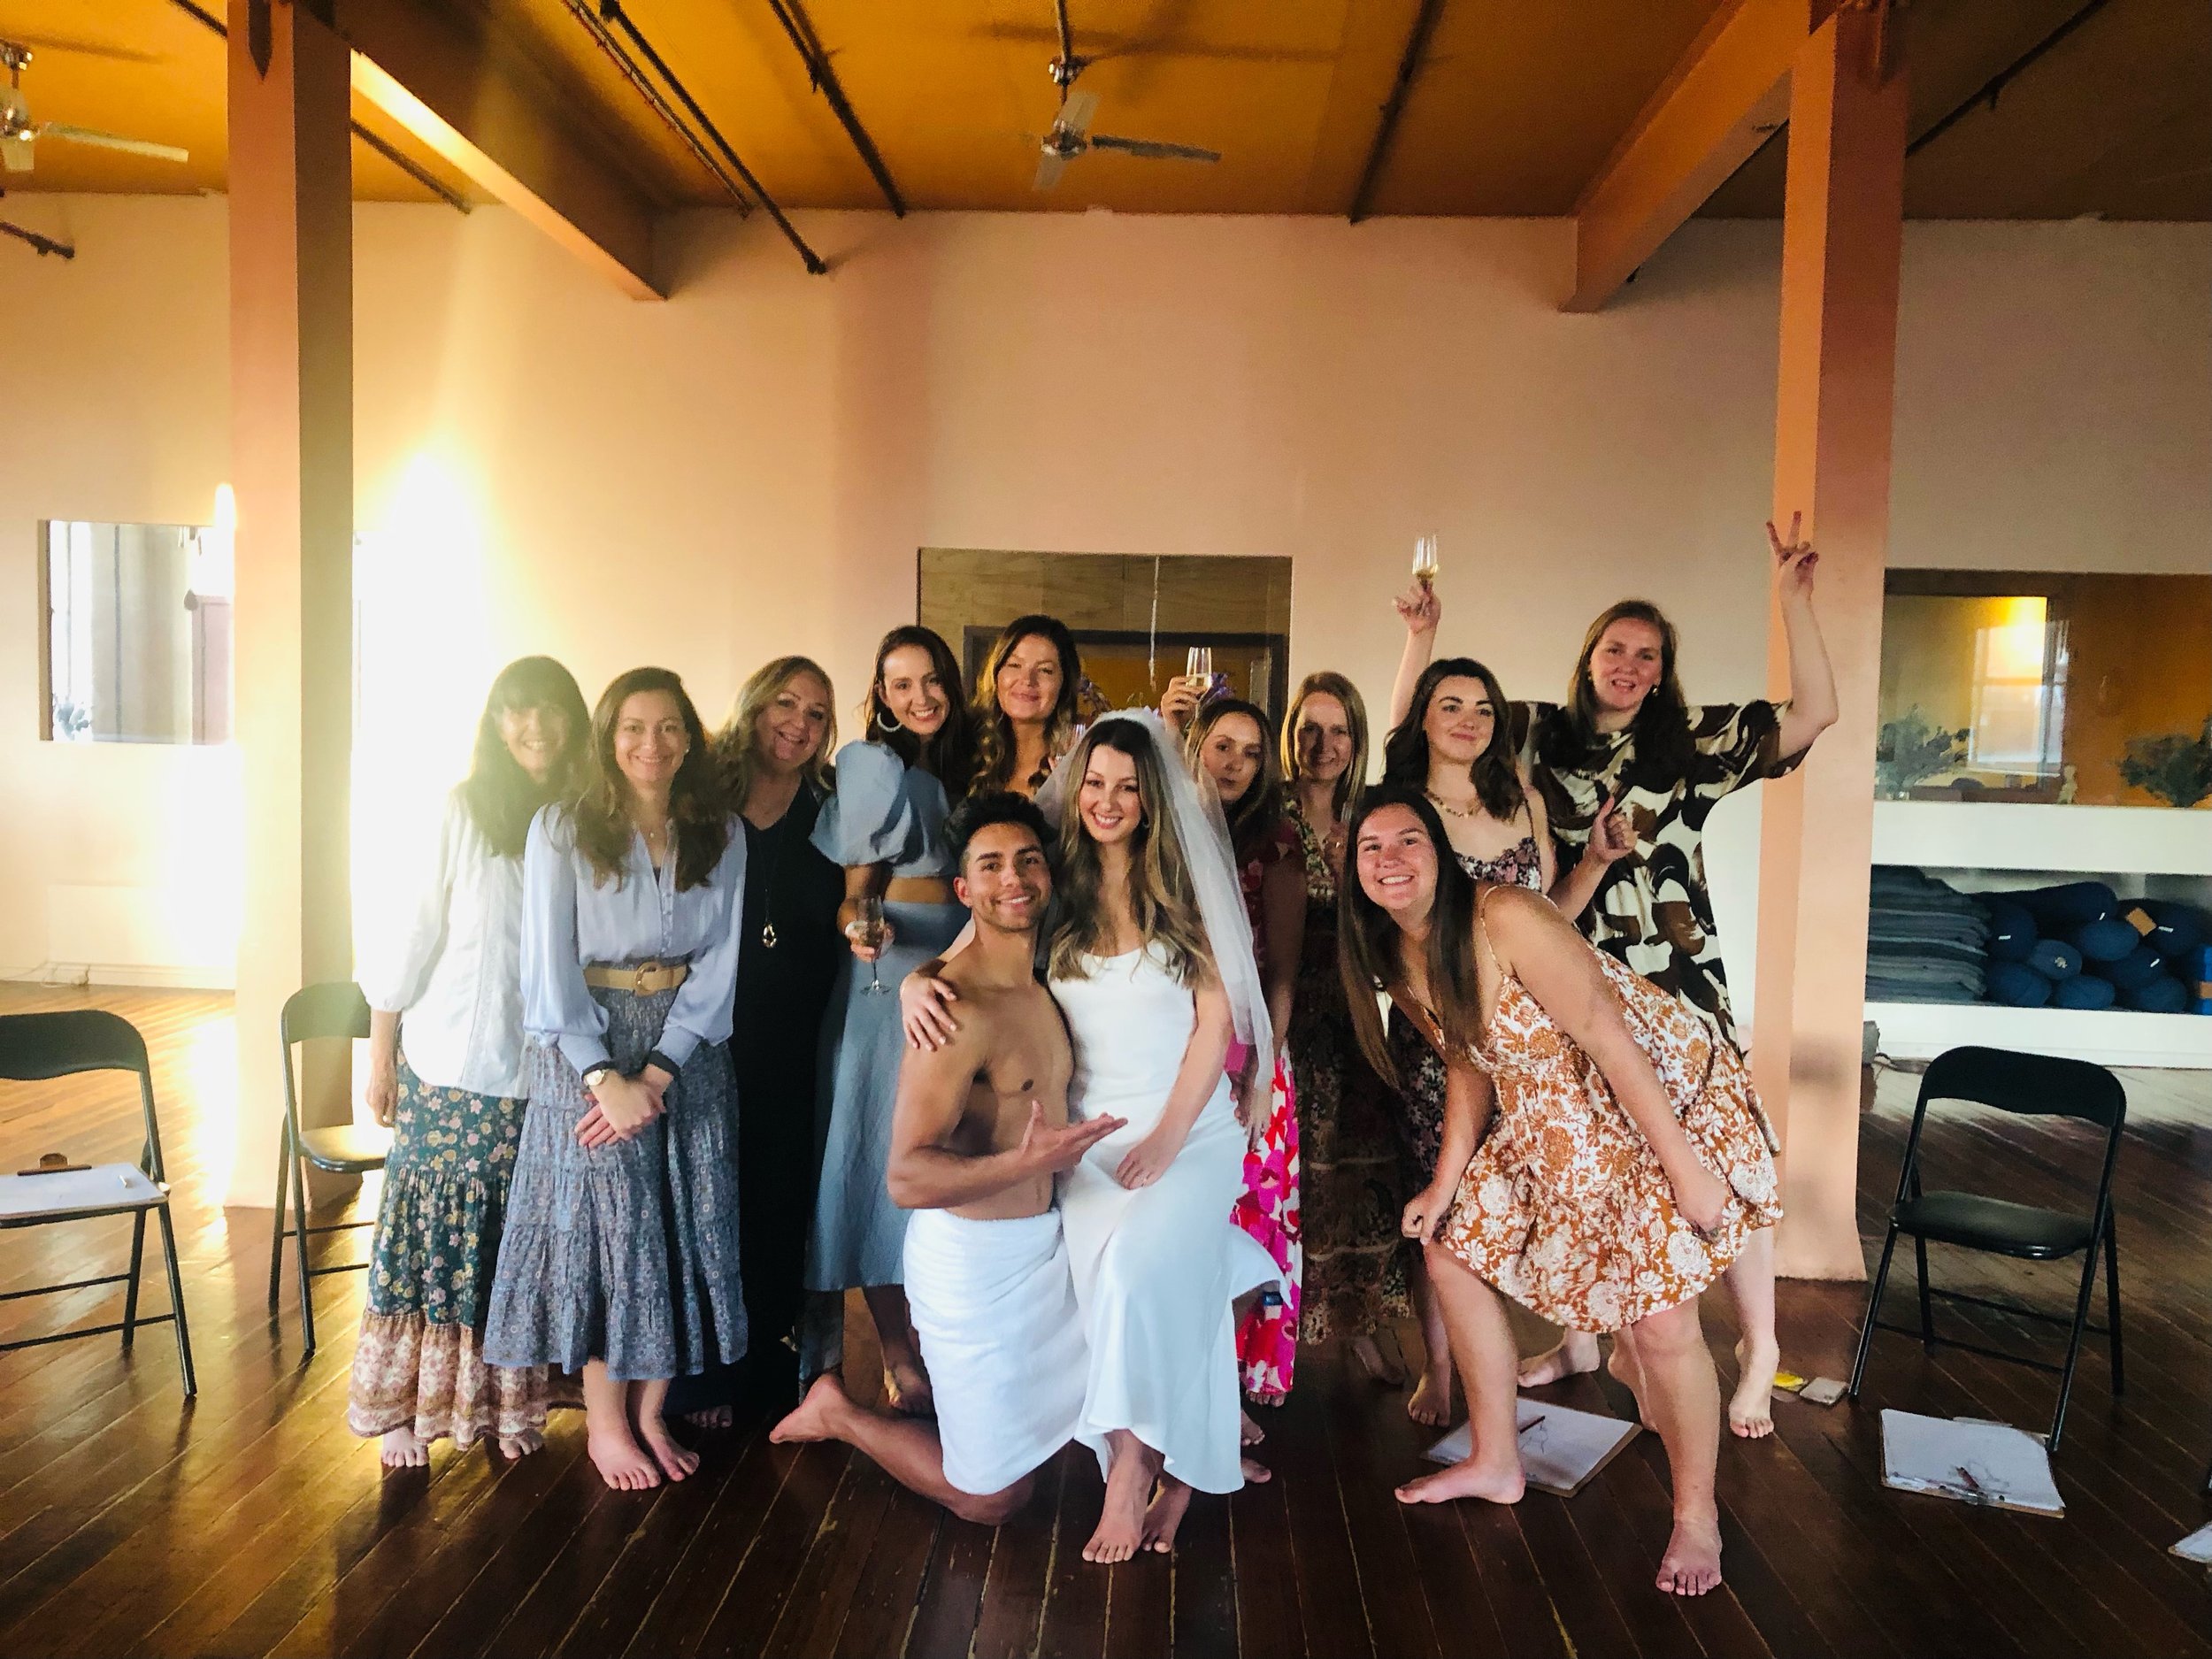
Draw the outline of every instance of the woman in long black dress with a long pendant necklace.
[[[814,1214],[814,1068],[823,1011],[845,960],[836,907],[845,872],[814,849],[830,796],[836,712],[830,675],[807,657],[776,657],[737,695],[714,737],[730,801],[745,825],[745,936],[737,958],[739,1259],[752,1349],[741,1374],[763,1409],[799,1398],[796,1327],[805,1307],[807,1223]],[[688,1385],[686,1385],[688,1383]],[[701,1427],[732,1420],[739,1371],[677,1385],[670,1409]]]

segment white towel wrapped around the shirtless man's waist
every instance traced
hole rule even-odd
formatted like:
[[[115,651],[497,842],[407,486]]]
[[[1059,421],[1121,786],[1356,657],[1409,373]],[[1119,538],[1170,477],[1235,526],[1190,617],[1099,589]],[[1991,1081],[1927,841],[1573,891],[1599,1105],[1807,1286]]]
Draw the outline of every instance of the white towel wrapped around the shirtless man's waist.
[[[1075,1438],[1088,1356],[1060,1210],[1011,1221],[916,1210],[907,1303],[936,1396],[945,1480],[998,1493]]]

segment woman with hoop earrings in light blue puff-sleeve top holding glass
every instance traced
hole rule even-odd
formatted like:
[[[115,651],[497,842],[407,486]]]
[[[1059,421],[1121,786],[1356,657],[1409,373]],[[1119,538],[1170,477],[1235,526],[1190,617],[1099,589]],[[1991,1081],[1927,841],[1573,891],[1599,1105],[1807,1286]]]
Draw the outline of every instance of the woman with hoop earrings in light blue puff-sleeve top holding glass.
[[[967,927],[945,849],[949,794],[973,763],[951,648],[929,628],[887,633],[860,717],[869,741],[838,750],[836,796],[814,821],[814,845],[845,867],[838,925],[852,960],[823,1022],[823,1170],[807,1290],[860,1287],[883,1347],[885,1398],[898,1411],[927,1413],[929,1376],[900,1290],[907,1212],[891,1203],[883,1172],[907,1048],[898,982]],[[834,1332],[810,1334],[805,1369],[823,1369],[834,1345]]]

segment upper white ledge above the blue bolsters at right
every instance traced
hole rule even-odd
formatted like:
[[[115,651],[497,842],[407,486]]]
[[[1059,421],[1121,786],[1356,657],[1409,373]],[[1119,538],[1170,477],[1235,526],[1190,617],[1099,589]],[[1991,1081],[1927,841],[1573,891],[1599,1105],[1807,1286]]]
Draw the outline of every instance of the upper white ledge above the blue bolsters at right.
[[[2212,812],[2035,801],[1876,801],[1874,863],[2212,876]]]

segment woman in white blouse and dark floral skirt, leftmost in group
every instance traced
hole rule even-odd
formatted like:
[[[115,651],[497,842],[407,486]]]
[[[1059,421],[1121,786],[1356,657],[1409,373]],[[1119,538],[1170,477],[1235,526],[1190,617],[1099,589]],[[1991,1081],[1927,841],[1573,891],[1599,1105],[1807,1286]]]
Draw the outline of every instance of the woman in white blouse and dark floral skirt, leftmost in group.
[[[345,1420],[387,1469],[495,1436],[544,1438],[546,1367],[484,1365],[484,1318],[522,1139],[522,843],[582,785],[591,714],[575,677],[522,657],[491,681],[476,759],[449,796],[436,865],[365,929],[369,1108],[392,1130],[369,1296]]]

